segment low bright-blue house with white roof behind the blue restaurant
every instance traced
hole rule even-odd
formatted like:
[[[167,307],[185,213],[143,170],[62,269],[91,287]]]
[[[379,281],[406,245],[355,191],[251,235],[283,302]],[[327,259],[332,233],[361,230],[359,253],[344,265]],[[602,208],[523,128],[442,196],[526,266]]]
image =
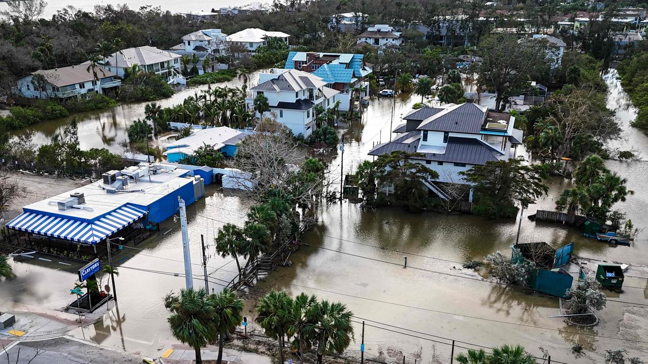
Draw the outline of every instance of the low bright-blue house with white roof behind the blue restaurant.
[[[167,144],[163,155],[167,156],[169,162],[178,162],[186,157],[192,157],[198,148],[207,145],[213,146],[214,150],[223,155],[233,157],[237,152],[238,142],[248,135],[249,133],[227,128],[227,126],[194,130],[189,137]]]

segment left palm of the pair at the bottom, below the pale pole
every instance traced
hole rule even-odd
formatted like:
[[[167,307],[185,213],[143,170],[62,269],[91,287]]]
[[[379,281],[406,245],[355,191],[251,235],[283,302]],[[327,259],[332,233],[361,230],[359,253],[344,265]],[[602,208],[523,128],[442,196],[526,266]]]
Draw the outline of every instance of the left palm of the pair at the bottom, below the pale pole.
[[[171,334],[196,352],[196,364],[202,364],[200,349],[218,339],[214,302],[205,288],[180,290],[179,295],[169,293],[164,306],[171,315],[167,321]]]

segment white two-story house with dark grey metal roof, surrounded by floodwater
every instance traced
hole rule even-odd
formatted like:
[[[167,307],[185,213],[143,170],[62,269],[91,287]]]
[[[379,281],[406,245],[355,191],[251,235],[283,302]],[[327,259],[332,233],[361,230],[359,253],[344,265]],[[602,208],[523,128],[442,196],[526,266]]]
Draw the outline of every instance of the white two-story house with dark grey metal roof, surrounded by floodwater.
[[[487,161],[515,157],[515,148],[522,144],[522,131],[513,128],[515,117],[494,113],[478,104],[447,104],[413,110],[394,133],[399,137],[374,146],[369,155],[382,155],[402,150],[421,153],[413,159],[439,174],[436,181],[422,181],[439,198],[447,199],[445,185],[470,185],[461,171]],[[470,188],[469,201],[472,201]]]

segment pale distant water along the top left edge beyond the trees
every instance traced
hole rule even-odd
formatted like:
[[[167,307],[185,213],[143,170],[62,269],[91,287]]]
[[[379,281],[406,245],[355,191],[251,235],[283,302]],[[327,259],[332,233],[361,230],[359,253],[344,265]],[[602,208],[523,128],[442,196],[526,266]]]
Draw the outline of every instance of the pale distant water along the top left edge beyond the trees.
[[[172,13],[178,12],[198,12],[204,10],[208,12],[212,8],[218,9],[226,6],[245,6],[250,3],[262,3],[270,5],[272,0],[190,0],[190,1],[176,1],[176,0],[46,0],[47,8],[43,12],[43,17],[49,19],[52,15],[56,14],[57,10],[62,10],[65,6],[72,5],[80,10],[91,12],[95,5],[118,5],[128,4],[132,10],[138,10],[141,6],[152,5],[159,6],[162,10],[169,10]],[[0,1],[0,10],[5,10],[6,4]]]

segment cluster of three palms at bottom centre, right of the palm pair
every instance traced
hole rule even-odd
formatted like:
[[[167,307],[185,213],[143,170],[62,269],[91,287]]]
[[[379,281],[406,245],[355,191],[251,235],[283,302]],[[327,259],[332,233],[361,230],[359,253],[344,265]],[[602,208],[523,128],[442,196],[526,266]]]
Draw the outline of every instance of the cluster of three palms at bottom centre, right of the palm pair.
[[[299,363],[308,350],[314,350],[318,363],[329,353],[341,354],[353,341],[353,312],[340,302],[318,301],[314,295],[301,293],[292,299],[286,291],[270,291],[257,306],[255,321],[265,334],[277,340],[279,358],[283,348],[296,350]]]

